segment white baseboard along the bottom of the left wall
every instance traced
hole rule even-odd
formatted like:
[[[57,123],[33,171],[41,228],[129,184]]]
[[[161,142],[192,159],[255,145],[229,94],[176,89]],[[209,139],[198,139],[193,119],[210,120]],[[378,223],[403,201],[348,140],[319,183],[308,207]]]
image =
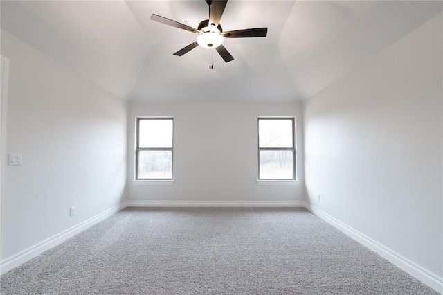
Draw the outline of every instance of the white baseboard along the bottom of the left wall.
[[[94,217],[89,218],[89,220],[85,220],[84,222],[71,227],[70,229],[66,229],[66,231],[62,231],[61,233],[57,233],[57,235],[53,235],[51,238],[48,238],[42,242],[39,242],[20,253],[15,254],[5,260],[0,261],[0,274],[5,274],[11,269],[18,267],[24,262],[38,256],[44,251],[51,249],[52,247],[57,246],[57,244],[62,243],[64,240],[72,238],[74,235],[88,229],[89,227],[97,224],[98,222],[105,220],[105,218],[117,213],[126,207],[126,203],[122,203],[120,205],[109,208],[107,211],[104,211]]]

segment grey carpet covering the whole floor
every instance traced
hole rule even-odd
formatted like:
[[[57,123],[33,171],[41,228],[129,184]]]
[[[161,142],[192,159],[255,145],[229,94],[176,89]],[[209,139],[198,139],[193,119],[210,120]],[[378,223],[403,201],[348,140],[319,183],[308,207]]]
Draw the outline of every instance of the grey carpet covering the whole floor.
[[[2,294],[437,294],[303,208],[126,208]]]

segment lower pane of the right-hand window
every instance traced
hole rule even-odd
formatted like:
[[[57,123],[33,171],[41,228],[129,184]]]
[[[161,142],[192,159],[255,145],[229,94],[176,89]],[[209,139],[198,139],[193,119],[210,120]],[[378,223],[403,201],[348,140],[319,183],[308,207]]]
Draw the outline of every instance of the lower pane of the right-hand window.
[[[291,150],[260,150],[260,179],[294,179]]]

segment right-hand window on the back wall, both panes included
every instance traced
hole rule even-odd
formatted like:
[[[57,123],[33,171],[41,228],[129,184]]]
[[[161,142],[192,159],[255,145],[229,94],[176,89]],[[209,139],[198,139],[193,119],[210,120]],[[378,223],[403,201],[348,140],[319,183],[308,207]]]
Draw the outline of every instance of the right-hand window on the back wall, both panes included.
[[[258,179],[295,180],[294,118],[258,118]]]

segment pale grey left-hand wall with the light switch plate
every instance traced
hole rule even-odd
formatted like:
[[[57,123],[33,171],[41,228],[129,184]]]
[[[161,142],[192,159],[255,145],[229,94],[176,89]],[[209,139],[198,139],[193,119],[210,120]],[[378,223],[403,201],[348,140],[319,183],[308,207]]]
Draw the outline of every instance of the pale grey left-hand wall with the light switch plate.
[[[3,166],[3,261],[123,202],[127,102],[3,30],[1,55],[5,152],[23,154],[21,166]]]

